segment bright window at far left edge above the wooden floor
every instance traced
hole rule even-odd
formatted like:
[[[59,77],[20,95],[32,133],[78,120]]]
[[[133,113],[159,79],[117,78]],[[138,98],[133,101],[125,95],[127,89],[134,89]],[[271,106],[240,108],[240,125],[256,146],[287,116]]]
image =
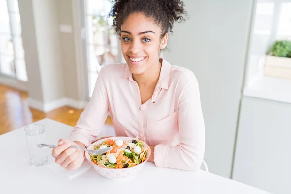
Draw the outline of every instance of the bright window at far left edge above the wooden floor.
[[[0,0],[0,74],[27,81],[17,0]]]

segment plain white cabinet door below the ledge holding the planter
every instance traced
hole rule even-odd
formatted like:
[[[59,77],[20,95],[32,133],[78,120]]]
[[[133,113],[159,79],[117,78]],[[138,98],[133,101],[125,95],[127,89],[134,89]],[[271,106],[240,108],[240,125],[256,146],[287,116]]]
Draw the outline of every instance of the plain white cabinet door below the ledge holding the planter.
[[[291,194],[291,105],[243,97],[233,179]]]

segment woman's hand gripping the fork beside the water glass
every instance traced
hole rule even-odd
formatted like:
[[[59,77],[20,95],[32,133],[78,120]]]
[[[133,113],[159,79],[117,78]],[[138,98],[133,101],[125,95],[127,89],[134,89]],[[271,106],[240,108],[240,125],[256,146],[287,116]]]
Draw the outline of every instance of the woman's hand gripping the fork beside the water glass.
[[[69,148],[70,146],[85,147],[78,141],[73,142],[68,139],[60,139],[58,146],[52,150],[52,156],[56,159],[55,162],[60,164],[63,168],[75,170],[84,162],[84,151],[81,149]]]

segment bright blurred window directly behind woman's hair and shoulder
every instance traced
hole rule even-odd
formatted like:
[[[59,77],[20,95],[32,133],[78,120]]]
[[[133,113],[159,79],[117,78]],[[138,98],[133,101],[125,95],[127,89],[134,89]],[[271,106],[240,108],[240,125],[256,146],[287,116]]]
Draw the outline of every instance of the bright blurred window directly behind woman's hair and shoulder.
[[[85,1],[89,97],[92,95],[100,69],[104,65],[121,62],[119,38],[112,28],[113,18],[107,17],[112,6],[111,0]]]

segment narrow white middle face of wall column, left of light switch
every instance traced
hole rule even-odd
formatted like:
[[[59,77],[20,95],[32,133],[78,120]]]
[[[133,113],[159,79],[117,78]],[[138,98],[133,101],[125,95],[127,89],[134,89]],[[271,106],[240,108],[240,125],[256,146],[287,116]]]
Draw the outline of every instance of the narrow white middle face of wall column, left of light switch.
[[[43,102],[47,103],[65,97],[56,4],[54,0],[32,2]]]

